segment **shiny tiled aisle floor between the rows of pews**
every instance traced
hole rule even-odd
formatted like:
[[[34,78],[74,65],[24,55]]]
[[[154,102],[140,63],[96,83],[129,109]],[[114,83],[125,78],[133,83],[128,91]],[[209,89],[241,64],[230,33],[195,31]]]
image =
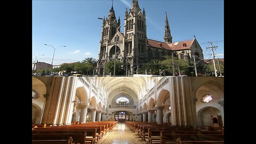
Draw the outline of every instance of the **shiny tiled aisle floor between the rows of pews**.
[[[103,136],[97,144],[140,144],[147,143],[139,138],[137,132],[132,132],[124,123],[118,123],[111,132]]]

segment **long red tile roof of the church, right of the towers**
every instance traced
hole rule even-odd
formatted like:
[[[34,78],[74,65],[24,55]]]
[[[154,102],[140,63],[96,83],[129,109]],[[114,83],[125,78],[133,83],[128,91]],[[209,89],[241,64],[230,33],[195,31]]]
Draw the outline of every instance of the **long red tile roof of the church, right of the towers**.
[[[148,39],[148,46],[156,47],[158,49],[172,50],[172,51],[187,50],[187,49],[190,49],[189,47],[191,46],[193,41],[194,39],[189,41],[181,41],[181,42],[167,44],[164,42],[155,41],[153,39]]]

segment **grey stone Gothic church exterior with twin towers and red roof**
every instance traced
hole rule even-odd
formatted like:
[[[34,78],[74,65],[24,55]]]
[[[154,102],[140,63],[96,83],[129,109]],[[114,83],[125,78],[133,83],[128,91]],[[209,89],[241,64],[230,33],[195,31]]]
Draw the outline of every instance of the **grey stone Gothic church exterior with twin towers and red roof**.
[[[124,26],[124,33],[120,32]],[[178,57],[180,60],[194,62],[202,59],[203,50],[195,36],[188,41],[172,42],[171,30],[167,13],[165,13],[164,42],[147,38],[146,12],[141,11],[138,0],[133,0],[129,12],[125,10],[125,21],[121,25],[120,18],[116,20],[113,5],[109,15],[102,21],[101,41],[98,54],[97,72],[105,75],[105,65],[115,59],[122,62],[122,68],[131,74],[150,60],[164,60],[166,56]],[[126,68],[127,67],[127,68]]]

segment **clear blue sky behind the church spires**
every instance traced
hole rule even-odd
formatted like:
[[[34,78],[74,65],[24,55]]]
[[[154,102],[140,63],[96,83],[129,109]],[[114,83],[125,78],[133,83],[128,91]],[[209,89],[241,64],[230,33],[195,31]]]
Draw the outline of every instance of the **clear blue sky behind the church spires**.
[[[32,59],[53,65],[82,61],[87,57],[98,59],[102,20],[108,17],[111,0],[38,1],[32,2]],[[116,17],[124,23],[125,9],[132,0],[114,0]],[[215,58],[224,53],[224,1],[157,1],[139,0],[145,8],[147,37],[163,41],[165,11],[169,19],[173,41],[191,39],[194,35],[203,49],[205,59],[212,59],[208,42],[213,42]],[[124,27],[121,27],[121,32]],[[51,46],[45,46],[49,44]],[[44,55],[42,55],[44,54]]]

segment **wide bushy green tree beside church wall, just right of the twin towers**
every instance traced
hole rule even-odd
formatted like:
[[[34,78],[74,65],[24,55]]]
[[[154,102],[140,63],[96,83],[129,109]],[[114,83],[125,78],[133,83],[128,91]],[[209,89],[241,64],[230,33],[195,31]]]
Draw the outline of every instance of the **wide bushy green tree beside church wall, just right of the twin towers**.
[[[145,63],[144,66],[139,68],[139,74],[145,74],[145,71],[147,70],[147,73],[150,73],[151,69],[151,74],[152,75],[159,75],[159,70],[165,70],[166,72],[168,71],[168,67],[166,65],[163,65],[163,63],[159,60],[151,60],[147,63]]]

